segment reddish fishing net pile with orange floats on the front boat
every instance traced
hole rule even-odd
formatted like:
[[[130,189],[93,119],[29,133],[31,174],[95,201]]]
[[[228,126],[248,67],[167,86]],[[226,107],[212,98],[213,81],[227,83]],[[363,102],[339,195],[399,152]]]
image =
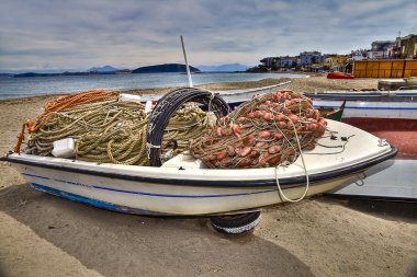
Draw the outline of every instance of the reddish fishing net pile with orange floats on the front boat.
[[[190,150],[211,169],[290,164],[303,149],[315,148],[326,126],[311,99],[285,90],[241,104],[192,141]]]

